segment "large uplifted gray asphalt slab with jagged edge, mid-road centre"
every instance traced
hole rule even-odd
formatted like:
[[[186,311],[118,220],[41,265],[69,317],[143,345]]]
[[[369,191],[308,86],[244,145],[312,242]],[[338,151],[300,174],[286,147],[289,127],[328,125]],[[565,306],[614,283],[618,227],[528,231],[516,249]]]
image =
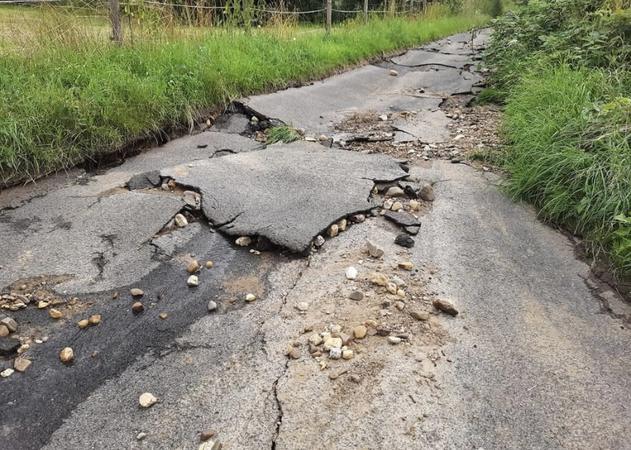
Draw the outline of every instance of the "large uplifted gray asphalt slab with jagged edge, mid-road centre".
[[[333,222],[376,206],[374,181],[406,172],[385,155],[295,142],[164,169],[162,176],[198,189],[206,218],[222,231],[304,252]]]

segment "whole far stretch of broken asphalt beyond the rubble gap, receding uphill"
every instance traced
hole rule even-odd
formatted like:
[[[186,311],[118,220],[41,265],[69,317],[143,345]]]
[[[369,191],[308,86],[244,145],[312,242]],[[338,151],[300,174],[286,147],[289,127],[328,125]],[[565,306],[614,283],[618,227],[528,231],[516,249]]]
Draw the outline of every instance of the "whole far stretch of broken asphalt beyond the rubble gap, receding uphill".
[[[475,39],[483,45],[486,37],[465,33],[455,42],[445,41],[443,45],[450,50],[467,48],[468,44],[462,41]],[[337,134],[337,126],[355,113],[414,111],[412,123],[397,124],[406,134],[398,133],[396,141],[437,143],[449,135],[449,120],[439,111],[441,102],[475,90],[481,77],[475,73],[474,65],[474,58],[466,52],[442,53],[440,46],[435,50],[416,49],[309,86],[259,95],[241,103],[257,114],[312,135]]]

